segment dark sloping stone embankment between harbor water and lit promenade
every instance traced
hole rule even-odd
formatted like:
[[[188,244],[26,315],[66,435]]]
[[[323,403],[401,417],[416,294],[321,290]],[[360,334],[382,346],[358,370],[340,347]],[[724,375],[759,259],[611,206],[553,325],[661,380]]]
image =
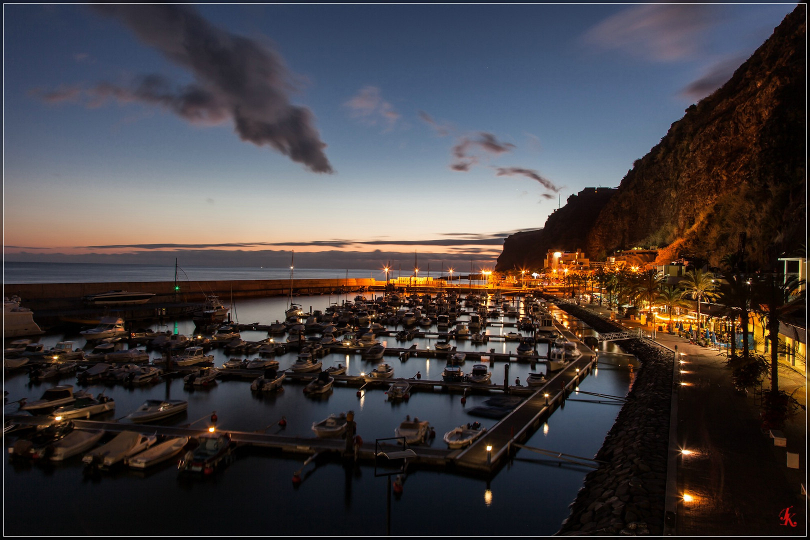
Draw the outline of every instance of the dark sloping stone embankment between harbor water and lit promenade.
[[[559,308],[600,333],[625,330],[585,308]],[[663,534],[672,396],[671,351],[646,339],[618,342],[642,363],[633,388],[558,535]]]

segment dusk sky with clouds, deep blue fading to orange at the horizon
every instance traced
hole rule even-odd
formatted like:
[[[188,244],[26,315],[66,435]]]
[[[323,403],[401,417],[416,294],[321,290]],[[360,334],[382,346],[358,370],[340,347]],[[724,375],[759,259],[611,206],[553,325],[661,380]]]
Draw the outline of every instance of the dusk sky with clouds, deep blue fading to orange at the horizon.
[[[491,267],[794,8],[4,4],[4,260]]]

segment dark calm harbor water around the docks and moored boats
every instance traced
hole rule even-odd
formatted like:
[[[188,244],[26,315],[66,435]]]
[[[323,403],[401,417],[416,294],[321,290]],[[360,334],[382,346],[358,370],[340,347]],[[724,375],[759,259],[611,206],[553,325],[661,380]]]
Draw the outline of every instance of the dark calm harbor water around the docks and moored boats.
[[[352,297],[348,300],[352,300]],[[367,295],[369,296],[369,295]],[[299,296],[296,302],[305,311],[324,310],[342,302],[336,296]],[[241,323],[269,324],[283,319],[287,299],[270,298],[240,301],[232,317]],[[580,334],[581,323],[563,312],[554,315]],[[514,321],[505,317],[506,321]],[[499,321],[493,320],[493,321]],[[155,330],[191,334],[190,320],[164,321]],[[578,330],[580,329],[580,330]],[[435,326],[428,331],[436,331]],[[505,334],[511,328],[488,327],[488,334]],[[242,338],[257,341],[267,335],[245,331]],[[396,347],[394,337],[381,342]],[[46,334],[46,346],[71,340],[83,345],[78,334]],[[416,338],[418,347],[432,347],[435,338]],[[412,342],[406,342],[409,345]],[[492,340],[486,345],[456,343],[458,350],[514,351],[515,342]],[[222,349],[212,350],[215,364],[229,358]],[[615,350],[614,352],[617,352]],[[539,353],[544,354],[540,349]],[[151,352],[152,358],[158,353]],[[277,357],[280,368],[295,361],[295,353]],[[326,355],[324,366],[338,361],[348,365],[349,374],[368,372],[374,363],[360,355]],[[394,376],[441,379],[444,361],[411,357],[400,362],[386,357]],[[471,362],[463,366],[471,368]],[[625,395],[632,385],[636,368],[633,359],[600,355],[599,368],[586,377],[580,389],[587,392]],[[509,365],[509,379],[525,381],[530,364]],[[542,364],[536,368],[543,370]],[[505,364],[492,365],[492,381],[502,383]],[[29,384],[25,372],[6,372],[4,387],[8,402],[19,398],[36,399],[55,384],[76,384],[75,377],[62,381]],[[77,386],[79,388],[79,386]],[[282,416],[288,420],[286,433],[311,436],[310,426],[330,413],[353,410],[358,433],[365,441],[394,436],[394,428],[405,418],[418,416],[435,428],[431,446],[442,448],[441,436],[462,423],[479,420],[486,427],[497,422],[467,415],[488,396],[460,393],[417,392],[408,402],[386,401],[384,389],[371,389],[358,398],[356,388],[336,387],[319,399],[308,398],[300,384],[288,383],[280,393],[252,393],[248,381],[219,381],[211,389],[184,389],[181,379],[168,379],[156,385],[134,389],[95,386],[116,400],[109,418],[121,419],[147,398],[187,399],[185,415],[164,423],[182,425],[207,419],[212,411],[223,429],[252,431],[274,424]],[[583,401],[578,401],[578,397]],[[535,448],[592,457],[612,426],[619,406],[584,401],[586,394],[572,394],[526,444]],[[6,406],[6,413],[16,410]],[[122,420],[126,421],[126,420]],[[195,425],[201,425],[197,423]],[[271,427],[276,432],[279,427]],[[6,446],[10,442],[6,442]],[[303,456],[279,457],[266,449],[240,449],[237,459],[211,478],[181,478],[173,463],[158,466],[146,474],[119,468],[87,474],[81,457],[61,465],[19,463],[6,458],[4,466],[4,533],[11,535],[382,535],[386,533],[386,478],[375,478],[373,466],[347,466],[334,461],[314,461],[302,471],[303,483],[294,487],[292,474],[303,466]],[[426,535],[549,535],[568,516],[568,505],[582,487],[589,468],[561,463],[538,453],[520,450],[494,478],[477,478],[437,470],[411,469],[403,494],[392,497],[391,534]],[[47,514],[47,519],[42,519]]]

